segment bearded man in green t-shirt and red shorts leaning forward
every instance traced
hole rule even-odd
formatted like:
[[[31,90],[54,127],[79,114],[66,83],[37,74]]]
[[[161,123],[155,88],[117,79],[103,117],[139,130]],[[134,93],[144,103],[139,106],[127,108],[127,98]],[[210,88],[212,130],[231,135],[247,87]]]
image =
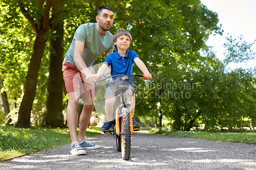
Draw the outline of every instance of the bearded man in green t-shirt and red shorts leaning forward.
[[[84,140],[90,117],[94,108],[94,85],[96,81],[92,64],[98,56],[105,57],[113,53],[113,35],[109,32],[114,19],[114,10],[109,6],[98,9],[96,23],[84,23],[75,32],[70,48],[62,66],[63,77],[68,91],[69,104],[67,120],[69,125],[73,155],[86,154],[84,149],[97,149],[99,145]],[[83,100],[83,109],[79,118],[80,129],[77,136],[77,107]]]

